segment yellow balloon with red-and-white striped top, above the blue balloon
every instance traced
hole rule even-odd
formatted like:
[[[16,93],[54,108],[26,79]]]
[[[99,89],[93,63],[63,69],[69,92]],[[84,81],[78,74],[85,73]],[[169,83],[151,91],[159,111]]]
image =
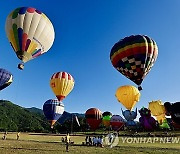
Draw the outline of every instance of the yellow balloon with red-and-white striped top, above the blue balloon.
[[[50,79],[50,87],[58,100],[62,101],[74,88],[74,79],[67,72],[57,72]]]

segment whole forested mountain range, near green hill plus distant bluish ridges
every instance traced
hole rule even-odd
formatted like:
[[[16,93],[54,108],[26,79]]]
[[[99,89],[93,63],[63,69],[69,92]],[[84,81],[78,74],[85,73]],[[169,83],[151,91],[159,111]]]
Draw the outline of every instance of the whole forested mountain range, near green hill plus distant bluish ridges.
[[[0,100],[0,131],[22,131],[22,132],[60,132],[69,130],[72,115],[77,115],[80,123],[84,123],[84,114],[64,112],[51,130],[41,109],[32,107],[24,108],[10,101]],[[73,122],[75,130],[80,130]],[[82,124],[84,125],[84,124]]]

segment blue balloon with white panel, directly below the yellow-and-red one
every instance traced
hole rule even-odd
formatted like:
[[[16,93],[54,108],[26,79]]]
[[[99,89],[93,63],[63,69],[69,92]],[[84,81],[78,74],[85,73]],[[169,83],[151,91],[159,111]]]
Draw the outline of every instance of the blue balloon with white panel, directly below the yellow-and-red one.
[[[64,112],[64,104],[56,99],[49,99],[43,105],[43,112],[51,128]]]

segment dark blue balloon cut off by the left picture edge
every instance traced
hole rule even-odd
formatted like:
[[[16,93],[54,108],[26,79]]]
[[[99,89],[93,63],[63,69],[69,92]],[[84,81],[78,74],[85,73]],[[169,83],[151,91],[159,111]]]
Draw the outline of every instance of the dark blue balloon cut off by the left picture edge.
[[[8,87],[12,82],[13,75],[9,71],[0,68],[0,90]]]

